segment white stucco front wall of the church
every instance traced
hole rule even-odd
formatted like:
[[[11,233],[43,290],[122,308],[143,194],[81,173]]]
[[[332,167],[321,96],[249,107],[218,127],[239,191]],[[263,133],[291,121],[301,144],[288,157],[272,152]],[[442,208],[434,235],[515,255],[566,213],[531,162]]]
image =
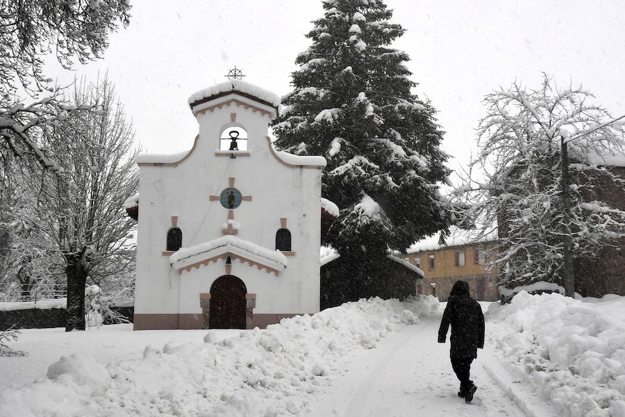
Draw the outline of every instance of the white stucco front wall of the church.
[[[219,136],[236,124],[248,133],[249,156],[216,156]],[[254,313],[314,313],[319,311],[319,243],[321,169],[290,167],[278,161],[267,144],[267,115],[230,104],[197,117],[199,139],[192,154],[176,166],[140,164],[135,313],[201,313],[199,293],[225,274],[224,261],[178,275],[163,256],[171,216],[178,215],[183,247],[223,236],[228,210],[209,195],[234,188],[251,195],[234,210],[238,238],[274,250],[280,219],[287,218],[292,236],[288,267],[276,277],[247,263],[233,261],[231,275],[256,293]]]

